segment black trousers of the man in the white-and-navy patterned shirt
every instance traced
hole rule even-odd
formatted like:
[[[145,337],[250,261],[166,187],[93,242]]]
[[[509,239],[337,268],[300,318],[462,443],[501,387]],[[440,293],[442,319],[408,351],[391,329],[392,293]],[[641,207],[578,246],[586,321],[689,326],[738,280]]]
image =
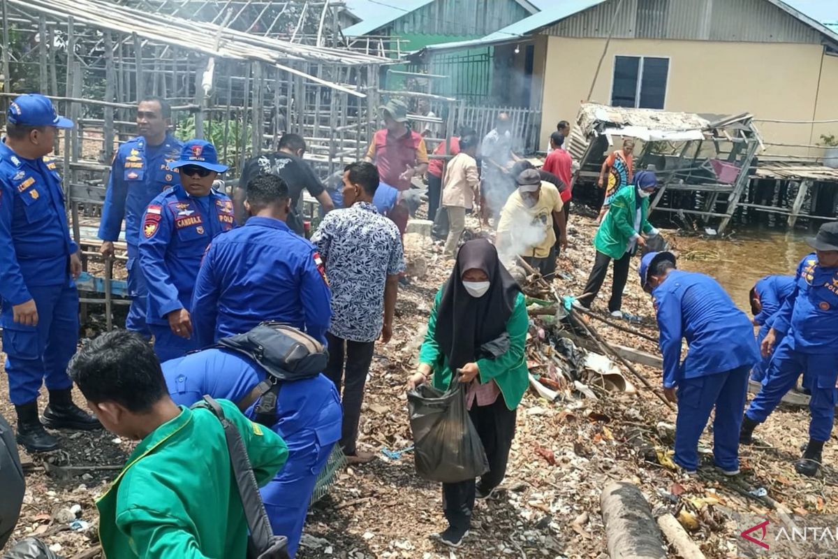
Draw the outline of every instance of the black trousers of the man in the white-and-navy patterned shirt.
[[[353,342],[326,334],[328,364],[323,374],[338,387],[344,406],[344,424],[340,432],[340,447],[344,454],[354,456],[358,439],[358,422],[364,402],[364,386],[370,372],[375,342]],[[345,365],[344,365],[345,362]],[[341,385],[343,384],[343,391]]]

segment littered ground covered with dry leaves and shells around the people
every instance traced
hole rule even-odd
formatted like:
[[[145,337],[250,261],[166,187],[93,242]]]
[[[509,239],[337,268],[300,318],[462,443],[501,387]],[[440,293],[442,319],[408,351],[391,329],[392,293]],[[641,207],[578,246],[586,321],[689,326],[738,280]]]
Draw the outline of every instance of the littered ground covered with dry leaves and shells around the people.
[[[561,278],[556,280],[561,295],[581,294],[593,261],[593,231],[590,218],[572,215],[570,247],[561,256]],[[441,546],[428,537],[445,528],[439,485],[416,476],[411,453],[401,458],[380,453],[382,448],[411,446],[405,380],[413,370],[433,296],[450,270],[450,263],[440,260],[438,246],[415,238],[406,245],[411,269],[422,277],[413,277],[400,292],[395,333],[390,344],[376,350],[361,419],[360,447],[379,452],[379,459],[344,471],[328,496],[313,506],[298,557],[606,557],[599,496],[608,482],[621,479],[639,485],[654,509],[678,515],[708,557],[738,556],[739,531],[730,520],[734,511],[763,514],[779,507],[800,515],[838,512],[835,444],[825,448],[827,465],[820,478],[803,478],[791,465],[807,440],[808,411],[776,411],[758,430],[758,447],[742,448],[742,475],[735,481],[722,479],[707,455],[699,474],[685,478],[667,467],[674,411],[623,367],[637,387],[634,393],[588,386],[594,400],[566,387],[554,403],[528,393],[518,410],[503,490],[478,503],[473,530],[462,548]],[[610,279],[603,293],[608,289]],[[594,308],[604,311],[603,298]],[[624,308],[645,318],[634,328],[656,335],[654,309],[634,270]],[[613,343],[656,351],[648,340],[597,320],[592,324]],[[532,330],[536,338],[540,328],[537,323]],[[85,334],[94,333],[88,325]],[[660,385],[660,370],[637,369],[653,386]],[[0,411],[14,423],[6,391],[3,382]],[[113,468],[122,464],[130,443],[104,432],[59,436],[65,443],[62,451],[34,457],[23,453],[30,473],[13,539],[36,534],[74,556],[96,544],[94,499],[118,473]],[[711,448],[711,433],[702,442]],[[62,468],[67,466],[72,468]],[[66,515],[72,505],[81,506],[79,518],[85,523],[75,524],[79,530],[70,528]]]

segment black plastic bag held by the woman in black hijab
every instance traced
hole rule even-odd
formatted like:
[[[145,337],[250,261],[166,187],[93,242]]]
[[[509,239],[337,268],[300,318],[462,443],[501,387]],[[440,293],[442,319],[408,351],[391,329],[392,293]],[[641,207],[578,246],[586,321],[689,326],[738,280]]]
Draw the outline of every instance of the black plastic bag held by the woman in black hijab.
[[[456,484],[489,471],[486,451],[466,410],[465,385],[453,381],[447,392],[430,384],[407,393],[416,474]]]

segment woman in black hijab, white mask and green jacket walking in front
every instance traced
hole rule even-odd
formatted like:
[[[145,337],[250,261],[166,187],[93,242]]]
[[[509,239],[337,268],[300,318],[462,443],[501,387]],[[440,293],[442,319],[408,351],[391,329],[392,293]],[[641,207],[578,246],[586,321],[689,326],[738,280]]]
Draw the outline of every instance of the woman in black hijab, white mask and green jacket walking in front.
[[[474,499],[489,498],[504,479],[515,409],[529,385],[524,357],[529,325],[524,294],[498,251],[485,239],[465,243],[451,277],[437,292],[419,372],[408,380],[411,390],[431,374],[433,386],[442,391],[453,382],[468,384],[468,413],[489,459],[489,472],[479,483],[442,484],[448,528],[439,538],[448,546],[458,547],[468,535]],[[484,344],[493,341],[500,347],[489,352]]]

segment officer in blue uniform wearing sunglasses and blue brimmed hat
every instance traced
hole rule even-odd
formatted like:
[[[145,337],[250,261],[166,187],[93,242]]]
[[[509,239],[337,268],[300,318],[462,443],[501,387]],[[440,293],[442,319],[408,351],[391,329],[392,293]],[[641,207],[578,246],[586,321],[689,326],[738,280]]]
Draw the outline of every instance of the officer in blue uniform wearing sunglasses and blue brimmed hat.
[[[180,175],[180,184],[148,204],[139,246],[148,285],[146,318],[161,361],[197,349],[190,302],[201,258],[213,237],[234,226],[232,201],[212,189],[218,173],[227,170],[215,146],[189,140],[168,167]]]

